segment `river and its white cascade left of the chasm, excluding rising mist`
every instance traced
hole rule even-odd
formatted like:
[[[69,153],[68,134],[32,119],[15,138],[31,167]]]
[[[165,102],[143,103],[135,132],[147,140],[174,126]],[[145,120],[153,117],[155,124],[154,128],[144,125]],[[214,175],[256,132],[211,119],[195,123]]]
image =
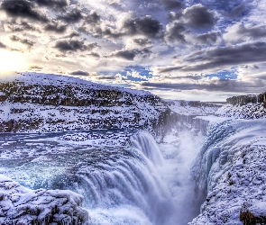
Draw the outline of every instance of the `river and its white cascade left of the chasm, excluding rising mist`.
[[[115,133],[108,130],[106,135],[111,137],[111,132]],[[105,133],[99,133],[103,138]],[[25,135],[23,141],[14,136],[10,148],[15,154],[6,151],[6,156],[26,151],[28,155],[16,165],[6,160],[1,172],[32,189],[68,189],[82,194],[93,224],[173,224],[174,202],[159,173],[161,149],[150,133],[133,131],[128,134],[129,144],[120,147],[70,144],[61,135],[66,134]],[[70,132],[70,136],[77,139],[80,133]]]

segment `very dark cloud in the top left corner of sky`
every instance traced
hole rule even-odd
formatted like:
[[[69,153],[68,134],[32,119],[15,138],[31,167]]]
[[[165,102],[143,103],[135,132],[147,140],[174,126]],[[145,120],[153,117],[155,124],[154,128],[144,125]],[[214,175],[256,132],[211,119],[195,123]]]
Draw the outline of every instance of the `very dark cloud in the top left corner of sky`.
[[[0,9],[10,16],[48,22],[47,16],[35,7],[34,2],[27,0],[4,0]]]

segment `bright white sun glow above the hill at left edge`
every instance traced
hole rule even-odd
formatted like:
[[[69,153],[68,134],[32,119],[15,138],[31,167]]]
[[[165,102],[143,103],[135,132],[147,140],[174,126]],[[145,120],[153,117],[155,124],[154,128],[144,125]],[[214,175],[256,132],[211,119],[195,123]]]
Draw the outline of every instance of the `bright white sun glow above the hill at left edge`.
[[[16,71],[23,71],[28,67],[23,53],[15,51],[0,51],[0,76],[14,74]]]

